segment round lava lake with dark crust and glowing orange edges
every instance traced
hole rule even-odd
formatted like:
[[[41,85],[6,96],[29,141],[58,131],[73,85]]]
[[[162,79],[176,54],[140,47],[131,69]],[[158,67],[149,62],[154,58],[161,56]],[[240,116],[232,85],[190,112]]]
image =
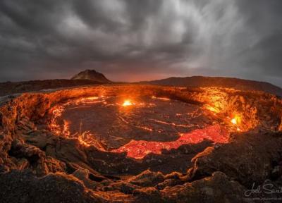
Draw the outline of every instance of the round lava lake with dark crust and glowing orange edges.
[[[204,139],[227,142],[228,130],[215,117],[199,104],[168,97],[102,95],[54,106],[51,127],[57,135],[142,159]]]

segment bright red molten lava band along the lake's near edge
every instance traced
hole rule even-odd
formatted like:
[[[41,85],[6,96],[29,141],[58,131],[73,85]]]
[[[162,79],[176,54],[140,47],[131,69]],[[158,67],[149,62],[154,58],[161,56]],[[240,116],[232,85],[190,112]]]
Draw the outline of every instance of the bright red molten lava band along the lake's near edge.
[[[145,140],[131,140],[111,152],[127,152],[127,156],[134,159],[143,159],[147,154],[161,154],[162,149],[177,149],[183,144],[197,144],[204,139],[216,143],[228,142],[228,131],[220,125],[212,125],[204,129],[193,130],[190,133],[182,134],[178,140],[173,142],[149,142]]]

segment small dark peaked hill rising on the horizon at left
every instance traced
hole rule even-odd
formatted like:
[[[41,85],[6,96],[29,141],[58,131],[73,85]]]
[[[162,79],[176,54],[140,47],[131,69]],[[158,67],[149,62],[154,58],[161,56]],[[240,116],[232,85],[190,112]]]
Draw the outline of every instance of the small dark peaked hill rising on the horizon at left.
[[[97,72],[96,70],[84,70],[77,75],[74,75],[71,80],[92,80],[96,82],[102,82],[102,83],[109,83],[111,82],[108,80],[105,75],[102,73]]]

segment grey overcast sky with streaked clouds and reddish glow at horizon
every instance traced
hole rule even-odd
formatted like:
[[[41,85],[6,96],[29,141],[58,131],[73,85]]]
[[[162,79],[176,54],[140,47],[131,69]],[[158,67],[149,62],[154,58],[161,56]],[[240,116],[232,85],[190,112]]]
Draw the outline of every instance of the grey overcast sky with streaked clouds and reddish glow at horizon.
[[[1,0],[0,81],[211,75],[282,87],[281,0]]]

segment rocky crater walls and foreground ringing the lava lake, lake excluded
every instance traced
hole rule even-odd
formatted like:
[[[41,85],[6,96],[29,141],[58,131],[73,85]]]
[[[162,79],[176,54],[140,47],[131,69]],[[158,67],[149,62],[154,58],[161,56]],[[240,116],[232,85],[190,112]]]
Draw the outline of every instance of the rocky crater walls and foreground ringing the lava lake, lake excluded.
[[[225,118],[236,113],[240,131],[228,127],[227,143],[204,140],[141,161],[52,133],[49,118],[56,104],[101,94],[157,95],[206,106],[226,127]],[[0,105],[0,202],[279,202],[282,197],[282,101],[271,94],[113,85],[22,94]],[[267,190],[251,190],[258,187]]]

